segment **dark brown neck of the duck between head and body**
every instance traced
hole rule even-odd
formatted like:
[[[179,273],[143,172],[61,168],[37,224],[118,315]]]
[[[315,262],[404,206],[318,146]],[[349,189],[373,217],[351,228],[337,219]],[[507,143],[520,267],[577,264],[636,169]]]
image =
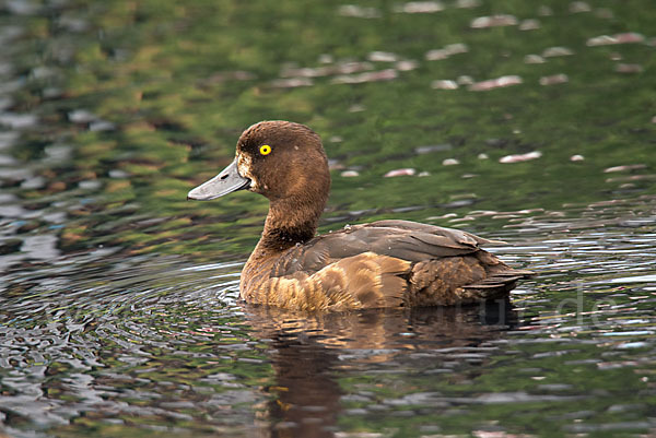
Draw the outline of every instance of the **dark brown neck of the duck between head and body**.
[[[272,200],[262,237],[255,253],[261,256],[284,251],[312,239],[324,212],[325,202],[300,202],[297,199]],[[263,252],[263,253],[262,253]]]

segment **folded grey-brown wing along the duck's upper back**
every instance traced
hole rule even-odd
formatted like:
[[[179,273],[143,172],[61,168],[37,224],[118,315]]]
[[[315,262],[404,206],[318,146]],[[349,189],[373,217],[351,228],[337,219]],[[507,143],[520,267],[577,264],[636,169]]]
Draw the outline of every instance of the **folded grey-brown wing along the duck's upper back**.
[[[409,221],[378,221],[347,226],[290,249],[274,264],[276,276],[314,273],[336,261],[371,252],[411,263],[465,256],[493,242],[459,229]]]

